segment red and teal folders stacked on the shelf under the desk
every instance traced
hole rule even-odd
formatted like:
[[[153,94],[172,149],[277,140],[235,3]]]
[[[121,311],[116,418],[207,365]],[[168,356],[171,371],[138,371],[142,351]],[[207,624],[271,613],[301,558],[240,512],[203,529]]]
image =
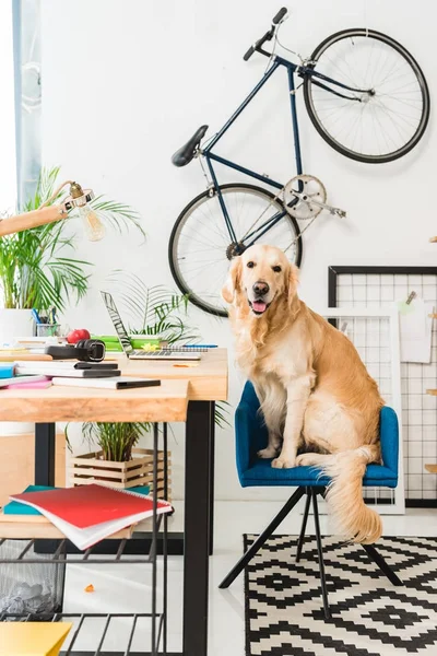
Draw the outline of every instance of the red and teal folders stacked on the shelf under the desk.
[[[11,495],[3,507],[1,534],[9,537],[29,532],[32,525],[31,532],[40,528],[36,537],[66,537],[78,549],[88,549],[108,537],[130,537],[135,524],[152,517],[153,499],[149,492],[147,485],[129,490],[95,483],[78,488],[29,485],[22,494]],[[158,515],[172,512],[167,501],[157,502]]]

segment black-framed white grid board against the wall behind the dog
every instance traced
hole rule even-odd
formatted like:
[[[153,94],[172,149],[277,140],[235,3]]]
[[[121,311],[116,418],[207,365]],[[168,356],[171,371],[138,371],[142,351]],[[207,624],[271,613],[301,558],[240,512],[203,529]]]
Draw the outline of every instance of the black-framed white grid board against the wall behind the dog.
[[[331,267],[329,279],[332,306],[385,307],[406,301],[412,291],[437,306],[434,267]],[[377,356],[371,350],[367,355]],[[368,364],[370,374],[375,375],[371,367],[380,366],[383,350],[380,362]],[[433,321],[430,363],[401,363],[403,466],[410,506],[437,505],[437,477],[425,470],[425,464],[437,462],[437,398],[426,394],[429,388],[437,388],[437,321]]]

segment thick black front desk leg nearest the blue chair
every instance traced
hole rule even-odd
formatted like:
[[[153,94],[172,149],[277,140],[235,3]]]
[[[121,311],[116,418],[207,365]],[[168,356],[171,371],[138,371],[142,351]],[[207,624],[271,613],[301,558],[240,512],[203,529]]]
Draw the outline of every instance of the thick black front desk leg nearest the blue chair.
[[[210,401],[190,401],[186,425],[184,656],[208,654]]]

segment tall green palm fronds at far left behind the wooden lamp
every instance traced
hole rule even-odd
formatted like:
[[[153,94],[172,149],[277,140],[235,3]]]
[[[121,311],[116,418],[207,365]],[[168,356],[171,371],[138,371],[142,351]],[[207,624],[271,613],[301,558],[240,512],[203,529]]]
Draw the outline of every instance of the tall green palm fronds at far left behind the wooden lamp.
[[[33,198],[21,208],[32,211],[46,203],[57,186],[59,167],[43,169]],[[48,204],[61,202],[61,191]],[[122,232],[130,226],[144,235],[139,214],[129,206],[104,200],[91,202],[98,218],[111,229]],[[82,298],[88,289],[92,263],[74,257],[74,235],[66,232],[68,221],[59,221],[0,238],[0,305],[7,308],[64,309]]]

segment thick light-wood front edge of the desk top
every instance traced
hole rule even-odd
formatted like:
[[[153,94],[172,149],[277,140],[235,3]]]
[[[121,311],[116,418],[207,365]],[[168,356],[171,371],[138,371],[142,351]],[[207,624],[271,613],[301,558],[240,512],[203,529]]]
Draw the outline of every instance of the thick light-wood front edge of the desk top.
[[[187,370],[182,370],[187,371]],[[188,380],[157,387],[58,387],[0,390],[0,421],[186,421]]]

